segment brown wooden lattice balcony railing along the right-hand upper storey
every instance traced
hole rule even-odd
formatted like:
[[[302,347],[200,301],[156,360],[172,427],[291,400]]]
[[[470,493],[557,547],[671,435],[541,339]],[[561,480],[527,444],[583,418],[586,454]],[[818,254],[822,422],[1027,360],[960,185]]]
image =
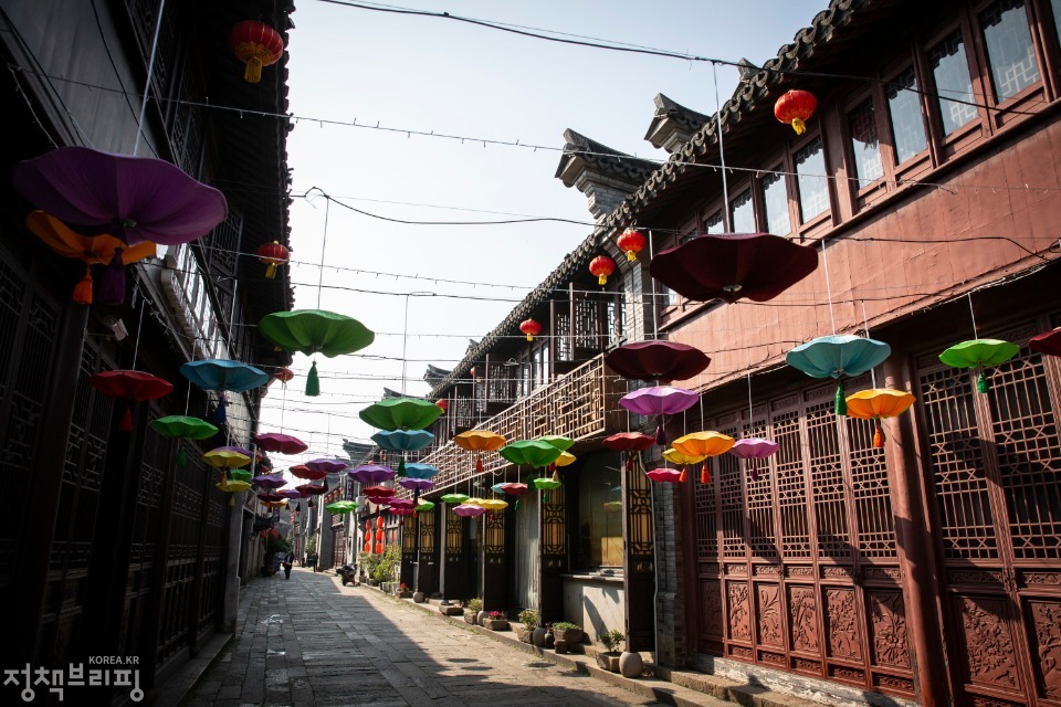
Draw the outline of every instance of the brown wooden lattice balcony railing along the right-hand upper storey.
[[[618,401],[627,392],[626,381],[608,374],[603,356],[582,363],[545,388],[516,401],[507,410],[479,425],[503,435],[508,442],[558,434],[576,442],[606,436],[619,430],[623,419]],[[475,454],[452,441],[420,460],[440,469],[435,487],[447,488],[475,476]],[[496,474],[512,466],[496,452],[483,455],[485,473]]]

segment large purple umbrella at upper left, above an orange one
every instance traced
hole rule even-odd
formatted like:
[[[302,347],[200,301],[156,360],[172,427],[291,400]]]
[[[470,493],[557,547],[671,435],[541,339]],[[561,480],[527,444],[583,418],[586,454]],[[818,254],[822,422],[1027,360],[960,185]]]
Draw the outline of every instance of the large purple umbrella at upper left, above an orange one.
[[[98,226],[129,245],[177,245],[224,220],[224,194],[169,162],[61,147],[14,166],[27,201],[73,226]]]

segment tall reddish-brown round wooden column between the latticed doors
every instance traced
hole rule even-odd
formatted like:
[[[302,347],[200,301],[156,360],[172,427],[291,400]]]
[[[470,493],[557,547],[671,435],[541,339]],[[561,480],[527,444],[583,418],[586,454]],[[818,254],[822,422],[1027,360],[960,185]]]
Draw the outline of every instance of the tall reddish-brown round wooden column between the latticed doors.
[[[886,387],[903,389],[906,378],[895,354],[884,361]],[[887,441],[885,454],[891,468],[892,513],[895,515],[895,536],[904,564],[903,590],[906,593],[906,625],[914,653],[914,674],[921,692],[922,707],[947,707],[952,704],[946,678],[946,655],[943,647],[943,627],[936,613],[936,592],[939,587],[937,567],[929,530],[926,496],[922,493],[924,479],[918,474],[917,450],[913,434],[913,408],[891,424],[885,423]]]

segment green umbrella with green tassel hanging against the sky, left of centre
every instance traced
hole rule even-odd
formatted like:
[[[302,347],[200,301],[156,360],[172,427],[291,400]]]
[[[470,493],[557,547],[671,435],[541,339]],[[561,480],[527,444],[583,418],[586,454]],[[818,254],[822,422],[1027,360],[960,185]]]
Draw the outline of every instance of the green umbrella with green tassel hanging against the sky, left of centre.
[[[319,352],[328,358],[359,351],[376,339],[376,335],[357,319],[324,309],[267,314],[262,317],[258,330],[267,341],[287,351],[302,351],[306,356]],[[321,394],[316,360],[306,378],[306,394]]]

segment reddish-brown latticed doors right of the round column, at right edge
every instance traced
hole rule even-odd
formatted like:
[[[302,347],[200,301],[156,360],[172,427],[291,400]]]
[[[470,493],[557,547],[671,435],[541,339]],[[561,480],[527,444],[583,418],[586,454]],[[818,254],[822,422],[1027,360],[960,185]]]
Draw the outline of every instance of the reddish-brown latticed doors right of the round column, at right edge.
[[[999,338],[1023,345],[1039,330]],[[935,355],[918,361],[955,701],[1061,705],[1057,361],[1021,348],[986,394],[973,379]]]

